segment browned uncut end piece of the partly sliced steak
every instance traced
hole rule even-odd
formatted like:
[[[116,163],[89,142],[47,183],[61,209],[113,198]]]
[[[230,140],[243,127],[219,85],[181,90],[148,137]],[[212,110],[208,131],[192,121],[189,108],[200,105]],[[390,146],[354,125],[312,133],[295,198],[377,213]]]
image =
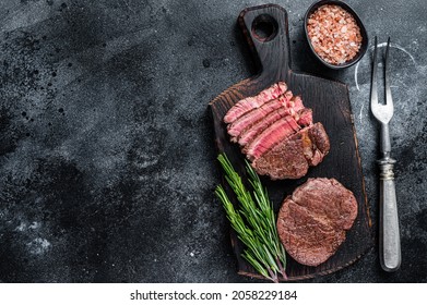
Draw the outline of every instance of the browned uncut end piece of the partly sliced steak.
[[[281,141],[252,161],[252,168],[272,180],[299,179],[329,152],[330,144],[321,123],[316,123]]]

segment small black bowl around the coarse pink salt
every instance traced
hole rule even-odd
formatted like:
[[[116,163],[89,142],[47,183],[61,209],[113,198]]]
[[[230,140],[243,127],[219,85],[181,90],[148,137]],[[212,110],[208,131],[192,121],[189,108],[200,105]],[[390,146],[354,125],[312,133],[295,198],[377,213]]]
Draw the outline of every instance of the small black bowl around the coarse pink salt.
[[[324,59],[322,59],[315,51],[315,48],[311,45],[310,37],[308,36],[308,29],[307,29],[308,19],[317,9],[319,9],[320,7],[325,5],[325,4],[339,5],[342,9],[344,9],[345,11],[347,11],[355,19],[356,24],[360,28],[360,35],[361,35],[360,49],[358,50],[358,52],[356,53],[356,56],[353,59],[351,59],[349,61],[346,61],[344,63],[341,63],[341,64],[332,64],[330,62],[327,62]],[[306,38],[307,38],[308,45],[310,46],[312,53],[319,59],[319,61],[321,63],[323,63],[325,66],[328,66],[330,69],[340,70],[340,69],[348,68],[348,66],[355,64],[364,57],[364,54],[366,53],[366,50],[368,49],[368,46],[369,46],[368,34],[366,33],[366,28],[365,28],[364,24],[361,23],[360,17],[356,14],[356,12],[348,4],[346,4],[342,1],[337,1],[337,0],[320,0],[318,2],[312,3],[311,7],[308,8],[306,15],[304,17],[304,32],[306,33]]]

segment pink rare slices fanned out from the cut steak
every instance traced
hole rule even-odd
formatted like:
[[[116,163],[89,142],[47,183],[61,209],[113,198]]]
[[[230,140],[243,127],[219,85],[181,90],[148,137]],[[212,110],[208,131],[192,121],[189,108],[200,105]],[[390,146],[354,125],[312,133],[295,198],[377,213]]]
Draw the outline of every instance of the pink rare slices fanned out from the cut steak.
[[[285,83],[277,83],[254,97],[238,101],[225,115],[232,142],[237,142],[253,161],[299,130],[312,125],[312,111]],[[322,156],[312,156],[312,164]]]

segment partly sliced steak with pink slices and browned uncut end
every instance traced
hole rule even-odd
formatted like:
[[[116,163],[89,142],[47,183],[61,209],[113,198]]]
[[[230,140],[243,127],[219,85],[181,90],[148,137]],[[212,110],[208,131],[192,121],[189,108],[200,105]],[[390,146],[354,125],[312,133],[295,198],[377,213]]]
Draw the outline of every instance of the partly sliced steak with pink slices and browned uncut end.
[[[224,122],[253,169],[272,180],[306,175],[330,149],[323,125],[313,124],[311,109],[284,82],[236,102]]]

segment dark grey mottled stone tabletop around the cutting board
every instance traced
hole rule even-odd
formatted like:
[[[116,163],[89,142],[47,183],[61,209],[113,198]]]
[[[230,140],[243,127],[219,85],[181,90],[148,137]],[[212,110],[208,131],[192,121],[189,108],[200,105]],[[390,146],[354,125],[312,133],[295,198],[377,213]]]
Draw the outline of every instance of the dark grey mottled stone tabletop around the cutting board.
[[[376,122],[369,54],[323,69],[289,14],[293,69],[348,84],[373,230]],[[311,282],[427,282],[427,7],[346,1],[390,35],[401,270],[378,248]],[[236,26],[261,1],[0,2],[0,281],[251,282],[236,273],[213,188],[207,102],[256,70]],[[357,70],[357,77],[355,72]]]

